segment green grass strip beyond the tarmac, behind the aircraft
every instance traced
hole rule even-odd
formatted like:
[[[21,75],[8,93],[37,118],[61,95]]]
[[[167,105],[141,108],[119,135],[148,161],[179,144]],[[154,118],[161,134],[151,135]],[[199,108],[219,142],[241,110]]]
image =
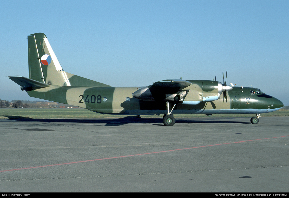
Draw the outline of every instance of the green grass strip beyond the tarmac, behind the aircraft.
[[[211,117],[252,117],[255,114],[219,114]],[[21,118],[122,118],[129,115],[102,115],[87,109],[16,109],[16,108],[0,108],[0,119],[21,119]],[[141,117],[159,117],[163,115],[141,115]],[[262,113],[261,117],[270,116],[289,116],[289,110],[279,110],[272,113]],[[136,117],[136,116],[129,116]],[[174,117],[208,117],[199,114],[175,114]]]

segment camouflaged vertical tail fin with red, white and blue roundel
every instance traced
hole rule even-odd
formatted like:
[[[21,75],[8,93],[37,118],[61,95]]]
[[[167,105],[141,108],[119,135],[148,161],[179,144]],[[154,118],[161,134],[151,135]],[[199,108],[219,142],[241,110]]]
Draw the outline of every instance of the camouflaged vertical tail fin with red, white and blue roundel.
[[[44,33],[28,35],[29,78],[48,85],[110,87],[64,72]]]

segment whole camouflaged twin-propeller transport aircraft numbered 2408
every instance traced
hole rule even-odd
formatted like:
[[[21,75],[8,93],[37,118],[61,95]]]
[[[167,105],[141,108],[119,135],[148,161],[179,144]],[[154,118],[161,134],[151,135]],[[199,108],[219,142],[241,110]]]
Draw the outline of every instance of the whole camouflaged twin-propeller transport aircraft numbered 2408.
[[[173,126],[173,114],[256,114],[276,111],[283,103],[253,87],[227,85],[208,80],[168,79],[145,87],[111,87],[65,72],[45,34],[28,35],[29,78],[9,78],[29,96],[71,104],[102,114],[164,114],[166,126]]]

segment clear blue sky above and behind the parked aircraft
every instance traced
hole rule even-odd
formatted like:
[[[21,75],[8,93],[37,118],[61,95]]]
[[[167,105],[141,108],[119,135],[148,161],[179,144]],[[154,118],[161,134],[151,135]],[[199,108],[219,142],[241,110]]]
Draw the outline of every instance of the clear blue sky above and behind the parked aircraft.
[[[2,1],[3,100],[36,100],[27,35],[45,33],[62,68],[111,86],[165,79],[260,88],[289,105],[289,1]]]

